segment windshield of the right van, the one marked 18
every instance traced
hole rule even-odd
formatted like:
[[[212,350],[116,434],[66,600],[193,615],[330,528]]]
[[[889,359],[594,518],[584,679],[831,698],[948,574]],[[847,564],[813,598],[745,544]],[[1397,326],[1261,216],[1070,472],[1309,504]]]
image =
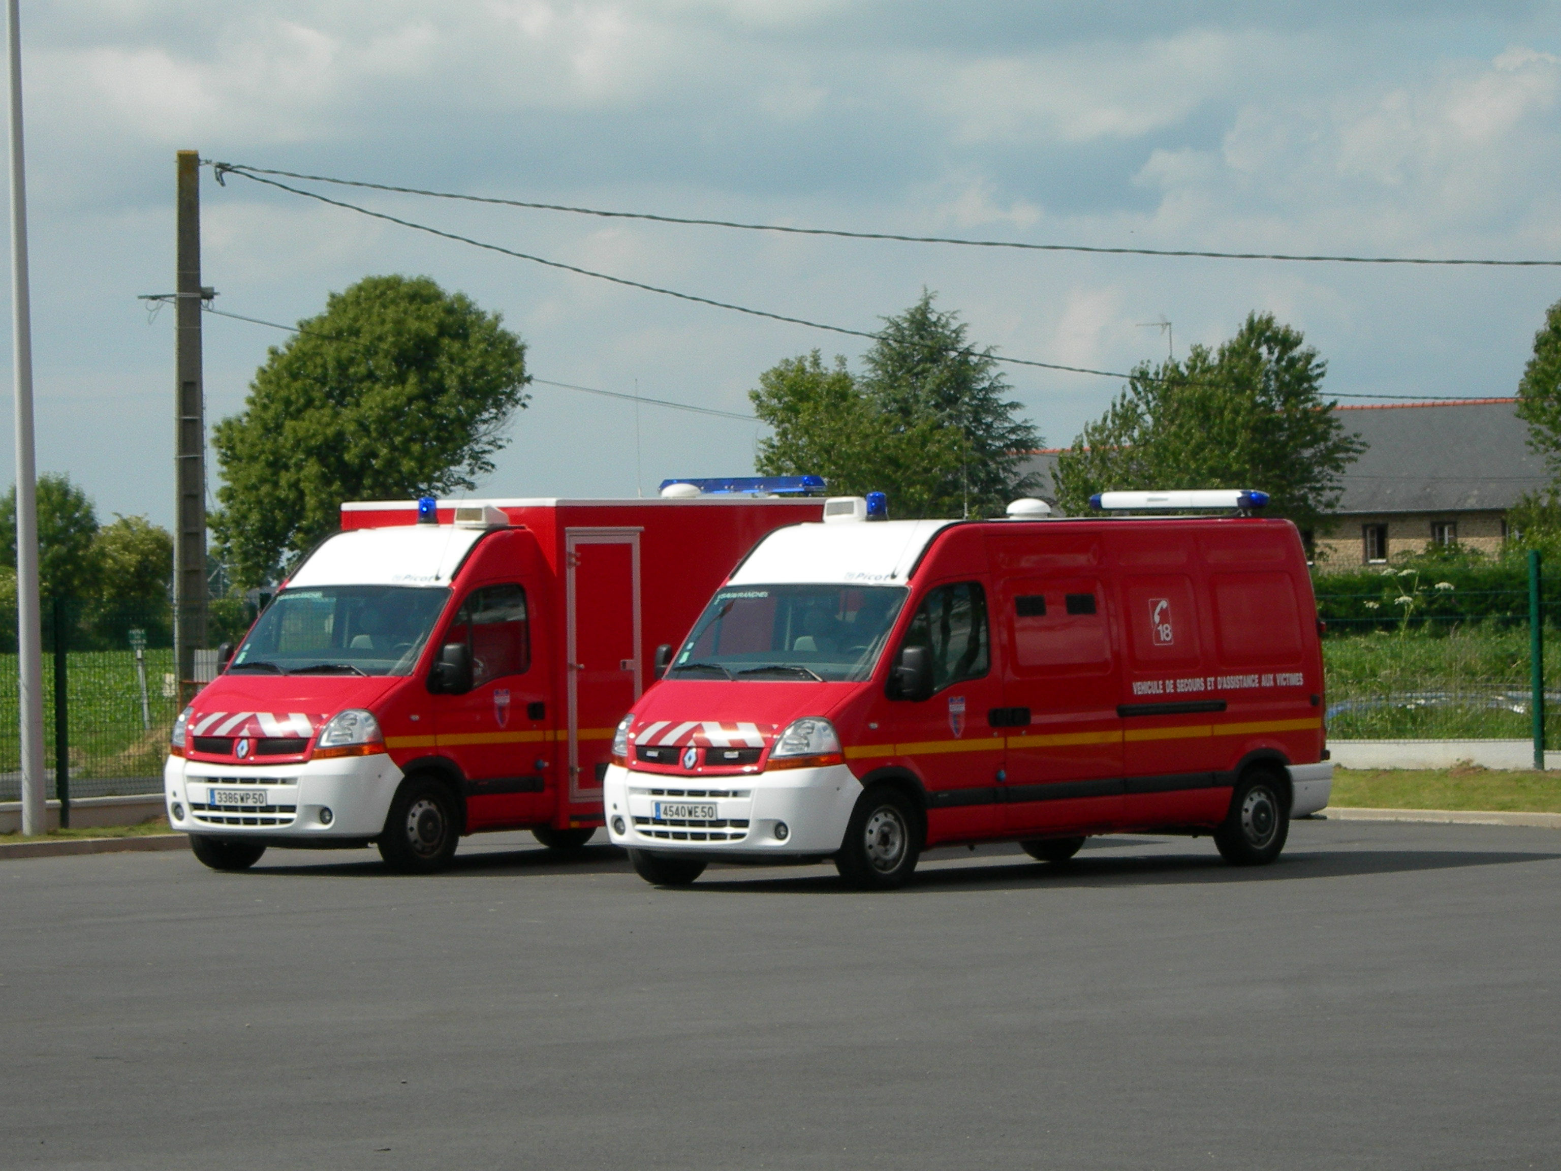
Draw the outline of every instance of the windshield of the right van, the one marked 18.
[[[898,586],[734,586],[710,600],[668,676],[866,679],[904,603]]]

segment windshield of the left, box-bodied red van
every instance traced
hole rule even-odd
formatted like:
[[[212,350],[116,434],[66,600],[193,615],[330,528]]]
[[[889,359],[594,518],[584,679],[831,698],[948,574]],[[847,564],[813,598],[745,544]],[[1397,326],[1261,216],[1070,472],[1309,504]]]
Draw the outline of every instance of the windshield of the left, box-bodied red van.
[[[229,671],[411,674],[450,590],[322,586],[283,590],[233,656]]]

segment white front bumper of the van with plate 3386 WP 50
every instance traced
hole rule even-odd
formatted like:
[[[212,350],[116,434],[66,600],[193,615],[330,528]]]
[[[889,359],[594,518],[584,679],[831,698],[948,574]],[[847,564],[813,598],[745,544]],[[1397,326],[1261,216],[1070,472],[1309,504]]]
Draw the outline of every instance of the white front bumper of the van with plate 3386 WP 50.
[[[169,824],[223,837],[375,837],[400,784],[401,770],[384,753],[303,765],[214,765],[170,756],[162,768]],[[259,796],[242,806],[219,803],[214,788]]]

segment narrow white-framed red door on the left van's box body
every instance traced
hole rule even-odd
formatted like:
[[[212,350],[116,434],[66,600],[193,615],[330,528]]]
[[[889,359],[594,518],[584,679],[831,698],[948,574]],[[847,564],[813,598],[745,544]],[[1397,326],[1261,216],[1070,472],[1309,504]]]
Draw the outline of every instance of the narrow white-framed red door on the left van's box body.
[[[599,812],[612,732],[640,698],[640,529],[565,529],[570,803]]]

